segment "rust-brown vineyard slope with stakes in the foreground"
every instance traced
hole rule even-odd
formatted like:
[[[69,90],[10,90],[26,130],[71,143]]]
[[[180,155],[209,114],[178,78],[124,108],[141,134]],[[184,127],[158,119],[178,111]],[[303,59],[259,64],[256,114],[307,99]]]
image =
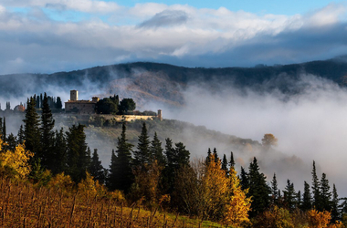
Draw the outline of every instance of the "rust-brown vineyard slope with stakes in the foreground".
[[[21,181],[2,179],[0,185],[1,227],[222,227],[160,211]]]

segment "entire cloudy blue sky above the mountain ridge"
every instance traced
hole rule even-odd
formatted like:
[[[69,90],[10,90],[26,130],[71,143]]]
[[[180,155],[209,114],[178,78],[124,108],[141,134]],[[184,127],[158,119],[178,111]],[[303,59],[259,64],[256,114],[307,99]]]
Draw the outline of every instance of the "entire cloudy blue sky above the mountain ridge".
[[[300,63],[346,55],[346,28],[346,1],[0,0],[0,74]]]

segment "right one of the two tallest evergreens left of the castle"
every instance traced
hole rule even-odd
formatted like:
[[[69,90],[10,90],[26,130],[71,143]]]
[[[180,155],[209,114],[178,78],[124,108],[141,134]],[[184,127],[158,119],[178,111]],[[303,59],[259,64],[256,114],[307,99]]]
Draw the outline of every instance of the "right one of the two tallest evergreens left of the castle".
[[[37,97],[38,98],[38,97]],[[42,113],[41,113],[41,151],[38,156],[41,159],[41,164],[44,168],[52,170],[54,166],[54,123],[52,111],[49,108],[47,94],[45,93],[43,103],[42,103]]]

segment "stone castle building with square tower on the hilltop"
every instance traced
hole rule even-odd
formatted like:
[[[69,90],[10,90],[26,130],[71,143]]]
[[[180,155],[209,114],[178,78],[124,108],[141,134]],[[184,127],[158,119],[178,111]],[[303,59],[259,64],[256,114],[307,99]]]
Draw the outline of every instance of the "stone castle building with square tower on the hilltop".
[[[78,114],[94,114],[95,106],[99,98],[93,97],[91,100],[79,99],[78,90],[70,90],[70,99],[65,102],[65,112]]]

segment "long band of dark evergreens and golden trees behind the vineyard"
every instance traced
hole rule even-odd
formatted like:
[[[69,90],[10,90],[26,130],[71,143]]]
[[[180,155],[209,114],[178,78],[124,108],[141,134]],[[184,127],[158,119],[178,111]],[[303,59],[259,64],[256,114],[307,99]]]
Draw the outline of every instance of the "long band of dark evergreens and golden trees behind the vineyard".
[[[273,214],[276,221],[292,224],[281,227],[295,227],[294,218],[303,213],[309,222],[311,218],[320,221],[317,218],[324,214],[324,218],[330,216],[331,223],[346,220],[347,199],[338,197],[335,185],[331,191],[325,173],[318,179],[314,161],[311,187],[305,181],[301,194],[288,180],[285,189],[280,191],[276,174],[268,184],[257,158],[253,158],[247,170],[241,167],[237,175],[233,152],[227,159],[226,154],[220,158],[216,149],[207,150],[204,160],[190,161],[190,152],[184,143],[166,139],[162,146],[156,133],[150,140],[145,122],[135,147],[127,140],[123,122],[117,147],[111,151],[110,167],[105,169],[98,150],[91,153],[86,143],[85,126],[73,125],[66,132],[54,130],[55,120],[46,93],[41,113],[37,113],[36,102],[35,96],[27,99],[24,125],[16,136],[6,137],[5,119],[0,121],[1,140],[5,141],[0,143],[0,153],[23,152],[24,148],[32,153],[27,175],[33,182],[44,184],[52,175],[65,173],[79,183],[90,174],[110,192],[121,191],[128,202],[142,202],[148,208],[160,204],[168,211],[237,227],[251,223],[255,227],[280,227],[271,222]],[[270,147],[277,139],[266,134],[262,142],[264,147]],[[19,147],[22,144],[25,147]],[[47,170],[51,175],[47,175]]]

